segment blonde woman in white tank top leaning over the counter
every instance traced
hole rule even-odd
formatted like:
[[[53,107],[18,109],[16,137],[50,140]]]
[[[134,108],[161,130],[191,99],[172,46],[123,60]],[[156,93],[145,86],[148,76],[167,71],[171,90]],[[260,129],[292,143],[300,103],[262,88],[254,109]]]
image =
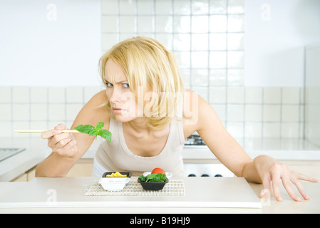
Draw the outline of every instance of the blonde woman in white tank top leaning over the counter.
[[[82,108],[71,128],[105,123],[111,142],[101,143],[94,160],[93,175],[130,171],[133,175],[162,167],[174,176],[183,175],[182,147],[197,131],[215,156],[249,182],[263,183],[261,197],[271,185],[281,201],[280,180],[290,197],[291,182],[304,199],[309,199],[299,180],[317,182],[289,170],[272,157],[252,160],[225,130],[215,110],[205,100],[183,87],[177,63],[164,46],[152,38],[130,38],[105,53],[99,61],[106,89]],[[63,177],[82,157],[95,136],[61,133],[58,125],[43,133],[52,153],[36,168],[38,177]],[[272,182],[272,184],[271,184]]]

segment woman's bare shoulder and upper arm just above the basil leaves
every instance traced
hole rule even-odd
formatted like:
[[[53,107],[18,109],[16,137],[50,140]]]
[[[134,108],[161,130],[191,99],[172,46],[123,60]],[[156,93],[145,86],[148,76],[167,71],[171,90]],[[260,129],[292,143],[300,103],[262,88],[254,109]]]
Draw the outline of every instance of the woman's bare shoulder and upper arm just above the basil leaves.
[[[95,95],[83,106],[74,120],[72,128],[80,124],[96,125],[98,122],[105,123],[104,128],[109,129],[110,113],[105,108],[107,95],[105,90],[102,90]]]

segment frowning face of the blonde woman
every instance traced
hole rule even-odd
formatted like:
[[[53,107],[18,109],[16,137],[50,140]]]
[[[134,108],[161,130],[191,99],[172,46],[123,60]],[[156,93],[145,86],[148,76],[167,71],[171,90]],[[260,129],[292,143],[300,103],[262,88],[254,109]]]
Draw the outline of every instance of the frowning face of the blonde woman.
[[[105,65],[105,86],[115,120],[128,122],[143,116],[143,108],[135,102],[128,79],[122,69],[110,58]]]

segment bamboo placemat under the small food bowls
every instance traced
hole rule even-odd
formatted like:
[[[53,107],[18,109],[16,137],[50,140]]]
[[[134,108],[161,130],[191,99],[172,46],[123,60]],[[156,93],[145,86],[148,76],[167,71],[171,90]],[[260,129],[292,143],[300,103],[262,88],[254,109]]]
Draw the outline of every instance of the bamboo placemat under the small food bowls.
[[[185,185],[183,180],[170,180],[162,190],[148,191],[138,183],[137,180],[130,180],[120,191],[107,191],[98,183],[94,182],[85,191],[85,196],[184,196]]]

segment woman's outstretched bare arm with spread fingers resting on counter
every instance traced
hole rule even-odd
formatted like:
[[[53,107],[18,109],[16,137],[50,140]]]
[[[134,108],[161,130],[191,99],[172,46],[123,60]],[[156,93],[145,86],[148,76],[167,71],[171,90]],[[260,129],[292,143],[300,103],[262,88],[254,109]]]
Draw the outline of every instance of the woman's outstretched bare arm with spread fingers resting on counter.
[[[194,95],[193,98],[195,97]],[[193,102],[195,101],[194,99]],[[317,182],[316,179],[292,172],[287,166],[267,155],[260,155],[252,160],[224,128],[212,106],[200,96],[197,96],[197,104],[197,113],[195,113],[196,109],[192,111],[192,115],[197,115],[197,123],[193,126],[190,125],[187,129],[190,132],[196,130],[217,159],[234,175],[245,177],[249,182],[262,183],[265,190],[261,197],[267,195],[266,190],[270,191],[272,185],[274,197],[281,201],[279,192],[280,180],[282,180],[282,184],[292,199],[301,200],[294,194],[291,182],[296,185],[304,199],[309,199],[299,180]]]

